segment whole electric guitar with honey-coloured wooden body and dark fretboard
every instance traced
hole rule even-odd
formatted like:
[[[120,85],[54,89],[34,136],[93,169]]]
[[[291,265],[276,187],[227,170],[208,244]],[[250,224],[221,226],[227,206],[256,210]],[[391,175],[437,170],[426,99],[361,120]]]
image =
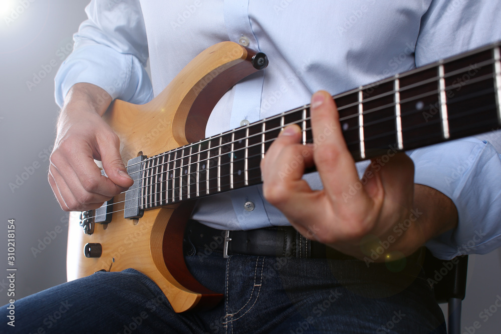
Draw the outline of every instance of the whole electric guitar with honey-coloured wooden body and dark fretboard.
[[[501,43],[335,96],[356,161],[409,150],[501,125]],[[212,108],[266,55],[231,42],[195,57],[145,105],[116,100],[103,116],[120,138],[134,185],[96,210],[70,216],[68,280],[135,268],[176,312],[207,308],[222,296],[198,283],[182,243],[193,200],[262,182],[260,161],[280,131],[298,124],[312,141],[309,106],[204,138]]]

